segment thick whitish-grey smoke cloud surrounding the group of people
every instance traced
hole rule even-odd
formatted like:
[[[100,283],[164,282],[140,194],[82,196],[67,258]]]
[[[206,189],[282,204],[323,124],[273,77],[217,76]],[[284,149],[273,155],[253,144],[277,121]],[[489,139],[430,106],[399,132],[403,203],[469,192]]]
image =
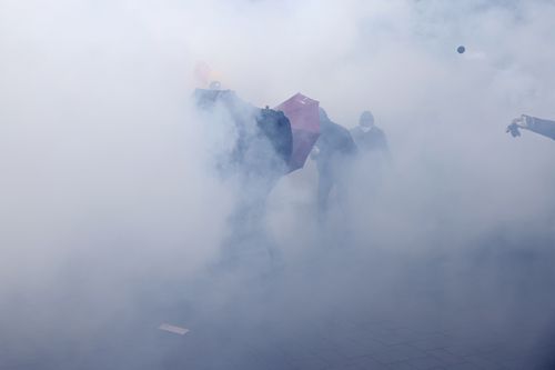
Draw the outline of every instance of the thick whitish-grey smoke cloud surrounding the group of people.
[[[337,312],[519,349],[553,340],[555,144],[504,133],[521,113],[555,118],[553,19],[542,0],[1,0],[6,363],[104,366],[90,354],[104,338],[172,319],[198,324],[188,339],[210,322],[202,353],[238,361],[225,336],[309,338]],[[244,194],[212,166],[233,133],[193,108],[199,62],[256,107],[302,92],[346,128],[372,110],[391,164],[357,163],[347,209],[322,230],[309,159],[236,241]],[[157,368],[176,349],[158,339],[142,357],[112,343],[114,368]]]

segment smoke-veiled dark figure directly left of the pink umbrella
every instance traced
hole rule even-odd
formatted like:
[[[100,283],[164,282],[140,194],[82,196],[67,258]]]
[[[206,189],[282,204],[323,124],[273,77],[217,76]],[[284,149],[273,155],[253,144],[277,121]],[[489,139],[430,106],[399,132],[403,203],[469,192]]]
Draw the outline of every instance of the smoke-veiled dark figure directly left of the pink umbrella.
[[[196,89],[194,98],[212,134],[221,137],[215,168],[223,179],[239,180],[230,222],[238,234],[260,229],[268,196],[289,170],[291,122],[283,112],[253,107],[231,90]]]

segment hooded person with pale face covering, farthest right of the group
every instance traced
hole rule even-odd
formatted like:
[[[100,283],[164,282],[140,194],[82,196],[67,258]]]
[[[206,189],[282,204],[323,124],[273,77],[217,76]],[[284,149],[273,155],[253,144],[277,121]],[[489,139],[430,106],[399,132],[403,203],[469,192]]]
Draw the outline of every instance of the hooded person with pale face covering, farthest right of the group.
[[[387,139],[385,133],[375,126],[372,112],[367,110],[362,112],[359,126],[351,130],[351,136],[361,152],[389,157]]]

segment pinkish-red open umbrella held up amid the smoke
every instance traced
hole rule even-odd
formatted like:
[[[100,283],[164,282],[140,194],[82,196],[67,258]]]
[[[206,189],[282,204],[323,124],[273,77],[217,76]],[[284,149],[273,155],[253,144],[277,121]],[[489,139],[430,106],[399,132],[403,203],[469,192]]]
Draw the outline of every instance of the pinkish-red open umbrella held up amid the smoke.
[[[291,121],[293,152],[289,160],[290,172],[304,166],[306,157],[320,137],[319,103],[302,93],[296,93],[274,108],[283,111]]]

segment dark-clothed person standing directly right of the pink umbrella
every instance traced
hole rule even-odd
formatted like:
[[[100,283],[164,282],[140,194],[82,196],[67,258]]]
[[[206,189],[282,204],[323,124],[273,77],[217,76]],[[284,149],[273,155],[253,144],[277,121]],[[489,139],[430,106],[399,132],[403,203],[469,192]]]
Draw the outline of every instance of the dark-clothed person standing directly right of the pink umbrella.
[[[344,201],[349,170],[356,152],[356,144],[349,130],[332,122],[320,108],[320,138],[312,158],[316,161],[319,171],[317,209],[321,220],[327,212],[329,197],[334,186],[337,199]]]

